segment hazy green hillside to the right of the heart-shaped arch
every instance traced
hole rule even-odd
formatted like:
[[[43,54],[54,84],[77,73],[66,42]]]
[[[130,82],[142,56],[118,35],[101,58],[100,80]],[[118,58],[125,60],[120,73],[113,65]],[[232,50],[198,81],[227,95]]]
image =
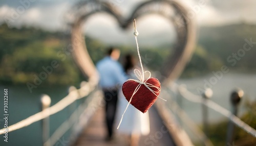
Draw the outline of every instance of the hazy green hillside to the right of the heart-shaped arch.
[[[251,44],[246,44],[247,41]],[[245,48],[244,48],[245,45]],[[251,73],[256,70],[256,25],[245,23],[199,30],[198,45],[182,77],[193,77],[220,70]]]

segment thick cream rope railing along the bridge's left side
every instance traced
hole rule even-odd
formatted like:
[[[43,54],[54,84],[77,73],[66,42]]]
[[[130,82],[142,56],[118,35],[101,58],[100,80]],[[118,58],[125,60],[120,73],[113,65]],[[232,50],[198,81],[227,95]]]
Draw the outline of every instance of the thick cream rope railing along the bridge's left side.
[[[84,85],[80,89],[71,91],[67,96],[65,96],[65,98],[60,100],[55,105],[53,105],[49,108],[46,108],[34,115],[31,115],[28,118],[23,119],[16,124],[9,126],[8,132],[12,132],[12,131],[27,127],[27,126],[35,123],[36,121],[44,119],[50,115],[53,115],[53,114],[63,110],[64,108],[66,108],[67,106],[72,104],[74,101],[76,101],[80,98],[83,98],[84,96],[87,96],[89,93],[91,93],[95,89],[96,85],[97,85],[97,79],[96,78],[90,79],[89,82],[84,83]],[[0,135],[4,134],[5,130],[6,130],[5,128],[0,129]]]

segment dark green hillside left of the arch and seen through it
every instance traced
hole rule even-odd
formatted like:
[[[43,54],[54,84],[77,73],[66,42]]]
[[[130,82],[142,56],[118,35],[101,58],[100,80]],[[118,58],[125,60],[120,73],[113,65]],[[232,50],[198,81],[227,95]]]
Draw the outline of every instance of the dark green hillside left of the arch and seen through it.
[[[100,40],[86,38],[88,52],[94,63],[105,56],[106,47]],[[131,53],[134,46],[118,46],[122,55]],[[143,47],[142,47],[143,48]],[[133,53],[136,54],[136,50]],[[151,69],[158,69],[168,50],[156,48],[141,51],[143,61]],[[41,29],[8,28],[0,26],[0,82],[42,85],[70,85],[84,80],[72,58],[70,35],[63,32],[47,32]],[[122,56],[120,57],[122,62]],[[150,61],[150,62],[149,62]],[[52,65],[55,64],[55,65]],[[50,66],[50,67],[49,67]],[[54,66],[56,66],[54,68]],[[37,83],[36,83],[37,82]]]

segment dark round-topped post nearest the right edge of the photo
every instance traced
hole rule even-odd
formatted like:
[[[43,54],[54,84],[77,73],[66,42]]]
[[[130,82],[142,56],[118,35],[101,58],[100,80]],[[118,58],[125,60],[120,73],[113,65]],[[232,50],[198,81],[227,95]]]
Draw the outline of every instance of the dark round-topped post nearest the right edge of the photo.
[[[238,105],[244,95],[244,91],[241,89],[236,89],[231,93],[230,102],[231,102],[231,110],[232,114],[238,114]],[[231,145],[233,141],[233,133],[234,133],[234,124],[231,120],[228,123],[227,135],[226,135],[226,145]]]

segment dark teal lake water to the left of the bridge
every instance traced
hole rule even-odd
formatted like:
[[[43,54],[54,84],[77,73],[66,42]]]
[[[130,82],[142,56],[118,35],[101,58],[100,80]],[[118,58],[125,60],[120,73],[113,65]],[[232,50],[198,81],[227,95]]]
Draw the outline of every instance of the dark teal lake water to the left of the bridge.
[[[66,86],[38,86],[30,93],[26,85],[19,86],[3,86],[0,85],[1,110],[0,110],[0,123],[1,129],[3,126],[3,105],[4,105],[4,88],[8,88],[8,125],[17,123],[39,111],[41,111],[40,96],[41,94],[48,94],[51,97],[51,105],[57,103],[68,93]],[[52,134],[63,121],[70,116],[72,110],[71,106],[63,109],[50,117],[50,133]],[[3,135],[0,136],[0,145],[42,145],[42,131],[41,121],[31,124],[28,127],[8,133],[8,142],[4,142]],[[65,135],[68,139],[68,135]],[[62,137],[61,137],[62,138]],[[61,139],[60,138],[60,139]]]

